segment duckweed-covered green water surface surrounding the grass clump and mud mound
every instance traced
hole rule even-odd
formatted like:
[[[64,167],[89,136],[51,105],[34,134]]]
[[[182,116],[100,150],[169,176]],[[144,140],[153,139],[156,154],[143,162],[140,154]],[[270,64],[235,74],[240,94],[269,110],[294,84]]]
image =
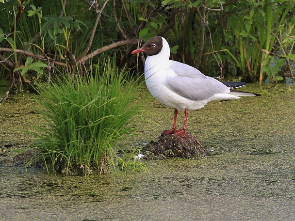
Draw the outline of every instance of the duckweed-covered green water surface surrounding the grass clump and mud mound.
[[[189,112],[188,131],[205,158],[144,160],[148,171],[140,173],[67,178],[13,163],[11,151],[33,140],[22,130],[45,122],[32,95],[8,97],[0,105],[0,220],[294,220],[295,89],[245,90],[262,97]],[[144,146],[172,126],[173,109],[148,92],[139,99],[146,106],[134,126],[145,136],[131,144]]]

